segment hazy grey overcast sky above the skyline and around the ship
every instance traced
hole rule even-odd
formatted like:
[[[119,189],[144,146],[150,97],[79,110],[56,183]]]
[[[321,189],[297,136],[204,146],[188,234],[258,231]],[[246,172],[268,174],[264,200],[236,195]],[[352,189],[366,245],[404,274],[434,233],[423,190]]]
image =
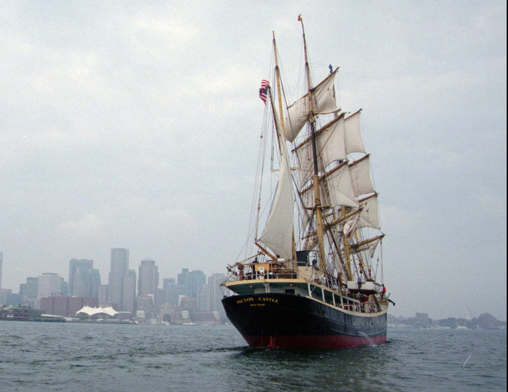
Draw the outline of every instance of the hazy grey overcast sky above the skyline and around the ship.
[[[241,6],[239,6],[241,4]],[[110,249],[225,272],[245,242],[275,30],[363,108],[395,315],[506,319],[506,5],[0,2],[3,288]],[[291,86],[290,86],[291,87]]]

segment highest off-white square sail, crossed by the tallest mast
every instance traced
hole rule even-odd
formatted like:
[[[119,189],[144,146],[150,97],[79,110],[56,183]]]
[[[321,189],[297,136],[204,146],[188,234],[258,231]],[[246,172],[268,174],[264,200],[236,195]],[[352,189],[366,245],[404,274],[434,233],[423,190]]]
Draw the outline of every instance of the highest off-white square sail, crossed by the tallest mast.
[[[328,75],[325,80],[318,84],[312,92],[314,97],[313,109],[314,114],[328,114],[338,111],[333,93],[333,83],[337,70]],[[309,94],[305,94],[293,105],[288,107],[287,116],[284,119],[284,136],[289,142],[293,142],[300,130],[308,120]]]

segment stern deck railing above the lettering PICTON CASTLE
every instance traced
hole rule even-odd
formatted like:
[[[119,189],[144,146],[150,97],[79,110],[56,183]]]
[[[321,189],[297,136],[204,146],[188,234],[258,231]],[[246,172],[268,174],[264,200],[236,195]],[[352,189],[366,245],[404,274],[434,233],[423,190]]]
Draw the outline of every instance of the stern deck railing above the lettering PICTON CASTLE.
[[[281,262],[236,263],[227,267],[225,283],[241,280],[295,279],[297,274]]]

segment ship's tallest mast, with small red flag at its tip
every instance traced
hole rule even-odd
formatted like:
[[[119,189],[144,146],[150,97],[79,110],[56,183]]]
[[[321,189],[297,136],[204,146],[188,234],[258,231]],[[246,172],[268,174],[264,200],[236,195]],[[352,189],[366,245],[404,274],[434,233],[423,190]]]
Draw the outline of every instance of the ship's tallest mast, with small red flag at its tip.
[[[326,273],[325,265],[325,246],[324,246],[324,225],[323,225],[323,211],[321,209],[321,192],[319,181],[319,167],[317,165],[317,148],[316,148],[316,135],[315,135],[315,122],[314,122],[314,108],[313,108],[313,94],[312,85],[310,83],[310,68],[307,56],[307,42],[305,40],[305,29],[303,27],[303,20],[301,15],[298,20],[302,23],[303,33],[303,49],[305,53],[305,72],[307,74],[307,89],[309,99],[309,114],[308,121],[310,123],[310,134],[312,137],[312,161],[314,164],[314,174],[312,175],[312,184],[314,187],[314,211],[316,218],[316,231],[317,231],[317,251],[320,259],[320,270]]]

